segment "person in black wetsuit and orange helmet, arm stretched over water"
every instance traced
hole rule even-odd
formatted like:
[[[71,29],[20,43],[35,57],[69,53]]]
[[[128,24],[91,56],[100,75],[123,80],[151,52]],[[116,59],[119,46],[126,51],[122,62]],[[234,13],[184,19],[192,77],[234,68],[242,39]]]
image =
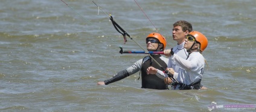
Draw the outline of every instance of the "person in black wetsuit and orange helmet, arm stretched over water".
[[[151,33],[146,38],[147,50],[149,52],[160,52],[165,49],[167,41],[165,38],[158,33]],[[162,68],[167,68],[168,59],[161,55],[151,55],[161,66]],[[143,59],[139,59],[132,66],[123,71],[118,72],[111,78],[100,81],[98,85],[107,85],[114,83],[115,81],[121,80],[128,77],[129,75],[135,74],[138,71],[141,71],[141,88],[147,89],[167,89],[167,85],[164,83],[162,78],[159,78],[155,74],[147,74],[147,68],[153,66],[157,69],[162,69],[150,56],[146,56]]]

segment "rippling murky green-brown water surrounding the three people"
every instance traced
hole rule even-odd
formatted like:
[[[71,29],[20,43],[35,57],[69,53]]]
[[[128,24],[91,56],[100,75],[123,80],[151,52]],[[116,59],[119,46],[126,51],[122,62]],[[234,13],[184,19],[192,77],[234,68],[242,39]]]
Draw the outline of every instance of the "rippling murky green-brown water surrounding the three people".
[[[208,37],[207,90],[141,89],[138,73],[97,86],[146,55],[123,37],[92,1],[1,1],[0,111],[209,111],[217,105],[254,104],[256,15],[254,0],[137,1],[158,31],[175,46],[172,24],[191,22]],[[156,32],[134,1],[95,1],[145,47]],[[248,108],[247,108],[248,109]],[[225,110],[217,111],[255,111]]]

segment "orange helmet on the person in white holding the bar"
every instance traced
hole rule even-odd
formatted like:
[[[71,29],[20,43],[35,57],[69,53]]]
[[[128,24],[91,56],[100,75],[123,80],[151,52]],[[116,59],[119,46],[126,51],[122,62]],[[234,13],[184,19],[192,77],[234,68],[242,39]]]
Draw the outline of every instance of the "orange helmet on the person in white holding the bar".
[[[208,45],[208,40],[205,37],[205,35],[203,35],[200,32],[197,32],[197,31],[192,31],[188,35],[193,35],[193,37],[196,38],[197,43],[200,43],[200,51],[201,52],[203,52],[203,50],[206,49],[206,47]]]

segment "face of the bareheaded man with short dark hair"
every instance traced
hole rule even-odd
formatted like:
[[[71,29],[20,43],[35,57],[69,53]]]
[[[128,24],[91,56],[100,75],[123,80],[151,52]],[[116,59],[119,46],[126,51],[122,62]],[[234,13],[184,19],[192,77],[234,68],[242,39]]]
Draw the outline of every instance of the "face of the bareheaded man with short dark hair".
[[[188,34],[188,31],[182,31],[181,26],[173,27],[173,40],[177,41],[178,44],[181,44],[185,41],[185,37]]]

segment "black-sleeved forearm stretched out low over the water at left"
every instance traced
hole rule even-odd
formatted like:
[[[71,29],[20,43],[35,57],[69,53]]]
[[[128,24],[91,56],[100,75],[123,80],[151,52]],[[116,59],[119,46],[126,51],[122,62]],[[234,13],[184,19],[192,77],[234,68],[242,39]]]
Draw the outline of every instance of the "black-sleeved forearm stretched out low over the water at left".
[[[128,77],[130,74],[129,72],[124,69],[123,71],[120,71],[118,72],[117,74],[115,74],[114,76],[112,76],[111,78],[107,79],[107,80],[104,80],[104,83],[107,85],[107,84],[110,84],[110,83],[114,83],[115,81],[118,81],[118,80],[121,80],[123,78],[126,78]]]

